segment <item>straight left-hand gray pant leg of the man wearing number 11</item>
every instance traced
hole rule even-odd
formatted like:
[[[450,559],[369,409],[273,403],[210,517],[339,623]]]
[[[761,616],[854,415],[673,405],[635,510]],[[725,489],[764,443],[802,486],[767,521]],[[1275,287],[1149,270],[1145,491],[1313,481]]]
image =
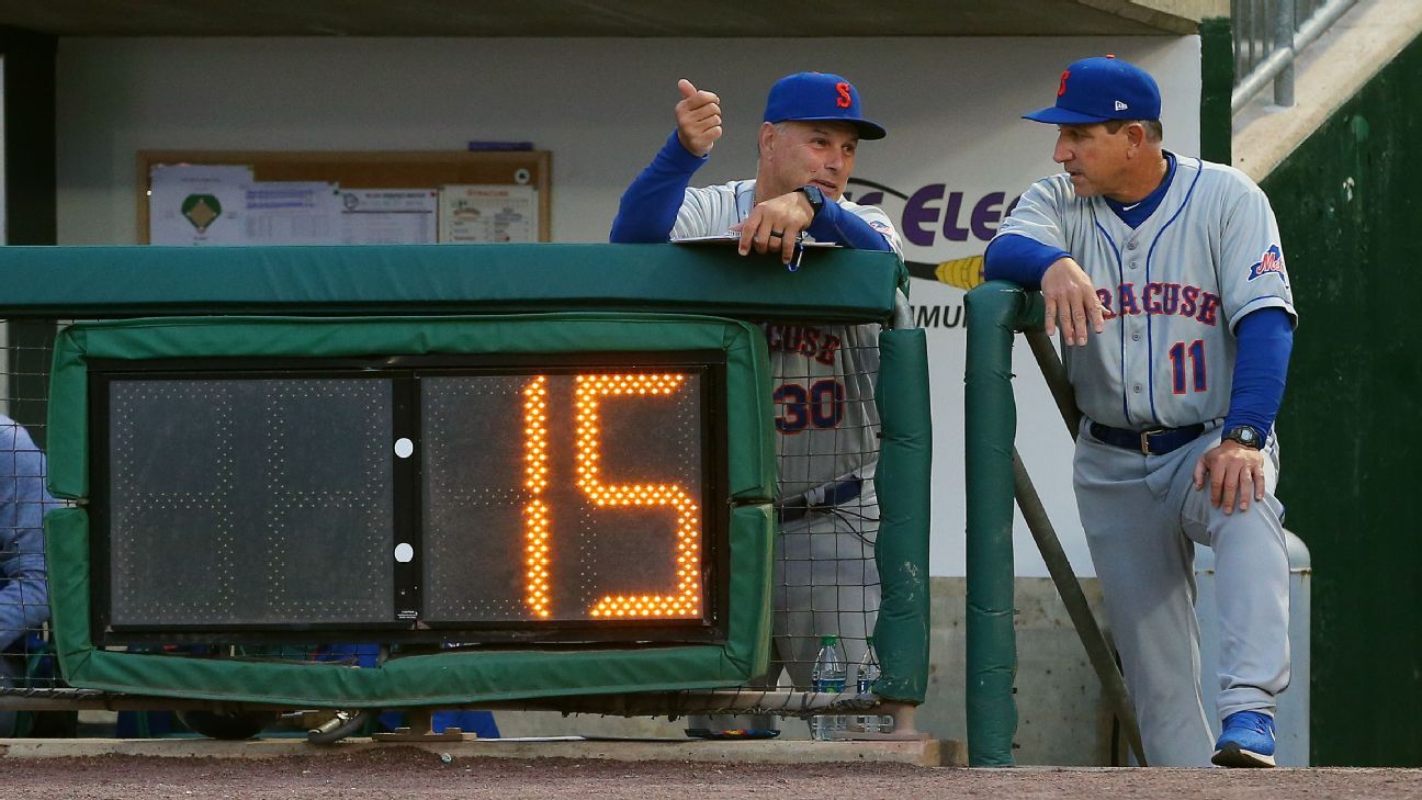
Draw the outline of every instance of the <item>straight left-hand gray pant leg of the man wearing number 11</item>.
[[[1194,551],[1152,483],[1139,454],[1078,438],[1076,505],[1146,760],[1207,766],[1214,747],[1200,695]]]

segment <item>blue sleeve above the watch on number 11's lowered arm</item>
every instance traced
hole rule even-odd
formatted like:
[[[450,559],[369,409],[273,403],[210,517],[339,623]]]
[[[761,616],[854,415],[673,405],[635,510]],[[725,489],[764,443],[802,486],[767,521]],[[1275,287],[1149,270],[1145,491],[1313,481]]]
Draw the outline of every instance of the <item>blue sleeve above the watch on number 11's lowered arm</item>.
[[[1288,356],[1294,349],[1293,320],[1284,309],[1260,309],[1239,320],[1234,336],[1239,349],[1224,430],[1250,426],[1267,436],[1284,400]]]

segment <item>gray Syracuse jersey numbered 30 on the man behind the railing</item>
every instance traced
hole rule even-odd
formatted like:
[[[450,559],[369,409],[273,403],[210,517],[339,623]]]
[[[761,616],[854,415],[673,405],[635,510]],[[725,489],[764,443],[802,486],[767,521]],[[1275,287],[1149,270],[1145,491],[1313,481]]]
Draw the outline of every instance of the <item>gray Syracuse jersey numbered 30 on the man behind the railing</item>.
[[[839,199],[840,208],[882,232],[903,255],[899,232],[883,211]],[[755,208],[755,181],[688,188],[671,238],[725,233]],[[879,457],[877,325],[765,325],[775,383],[776,454],[782,497],[795,497]]]

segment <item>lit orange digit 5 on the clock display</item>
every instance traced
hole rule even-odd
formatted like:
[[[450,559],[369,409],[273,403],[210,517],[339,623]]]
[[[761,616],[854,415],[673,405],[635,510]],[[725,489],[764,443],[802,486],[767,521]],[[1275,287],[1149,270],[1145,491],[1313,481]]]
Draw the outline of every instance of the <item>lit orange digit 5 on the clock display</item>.
[[[677,517],[677,591],[671,595],[606,595],[590,611],[594,618],[668,618],[701,615],[701,514],[691,495],[674,484],[606,484],[599,477],[597,407],[604,396],[670,396],[681,374],[577,376],[577,485],[600,507],[657,508],[670,505]]]

